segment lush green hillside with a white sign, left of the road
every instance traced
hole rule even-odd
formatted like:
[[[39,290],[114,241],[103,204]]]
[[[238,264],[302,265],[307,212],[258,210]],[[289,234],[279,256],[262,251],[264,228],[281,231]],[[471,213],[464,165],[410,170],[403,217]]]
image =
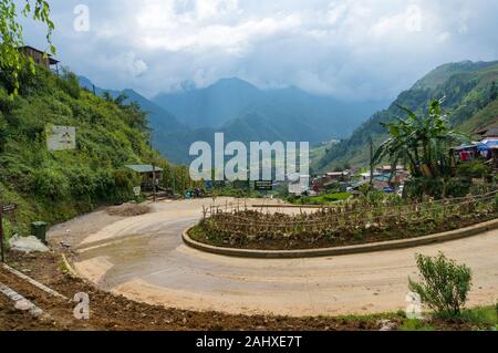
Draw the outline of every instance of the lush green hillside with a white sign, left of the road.
[[[86,212],[102,204],[132,198],[139,184],[126,164],[154,158],[166,168],[163,183],[172,184],[173,166],[148,145],[145,113],[136,105],[118,104],[80,89],[77,77],[58,77],[37,69],[21,77],[19,96],[11,100],[0,76],[0,201],[15,203],[19,211],[6,220],[28,232],[33,220],[51,224]],[[75,150],[50,153],[46,127],[76,127]],[[177,186],[185,173],[175,170]]]

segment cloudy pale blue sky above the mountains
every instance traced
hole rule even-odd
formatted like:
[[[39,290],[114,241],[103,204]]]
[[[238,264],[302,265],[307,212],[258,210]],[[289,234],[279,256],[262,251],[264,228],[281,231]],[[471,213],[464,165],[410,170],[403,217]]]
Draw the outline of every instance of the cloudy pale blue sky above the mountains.
[[[238,76],[390,100],[446,62],[498,60],[495,0],[51,0],[58,59],[154,96]],[[89,21],[86,21],[89,19]],[[25,42],[43,44],[24,24]]]

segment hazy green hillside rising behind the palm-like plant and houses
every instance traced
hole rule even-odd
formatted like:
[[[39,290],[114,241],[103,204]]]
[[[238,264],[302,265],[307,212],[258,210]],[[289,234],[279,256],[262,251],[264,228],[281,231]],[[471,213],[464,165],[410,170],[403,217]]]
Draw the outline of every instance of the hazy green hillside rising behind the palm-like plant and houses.
[[[364,166],[370,158],[370,138],[378,146],[386,137],[381,123],[404,116],[397,105],[423,113],[427,102],[446,97],[443,105],[450,125],[469,135],[479,126],[498,116],[497,84],[498,62],[469,62],[445,64],[403,93],[387,108],[375,113],[353,135],[330,148],[319,160],[313,160],[315,170],[341,168],[344,165]],[[469,136],[471,137],[471,136]]]

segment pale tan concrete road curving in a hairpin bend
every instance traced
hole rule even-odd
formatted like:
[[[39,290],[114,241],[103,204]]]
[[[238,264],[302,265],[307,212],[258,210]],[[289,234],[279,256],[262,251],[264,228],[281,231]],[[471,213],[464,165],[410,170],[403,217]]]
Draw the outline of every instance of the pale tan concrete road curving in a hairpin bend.
[[[227,199],[218,199],[225,205]],[[54,227],[52,241],[77,249],[75,270],[98,288],[152,304],[227,313],[366,314],[406,308],[415,255],[467,263],[474,272],[469,304],[498,298],[498,230],[419,248],[312,259],[240,259],[185,246],[206,200],[165,201],[137,217],[90,214]],[[248,204],[250,205],[250,204]]]

